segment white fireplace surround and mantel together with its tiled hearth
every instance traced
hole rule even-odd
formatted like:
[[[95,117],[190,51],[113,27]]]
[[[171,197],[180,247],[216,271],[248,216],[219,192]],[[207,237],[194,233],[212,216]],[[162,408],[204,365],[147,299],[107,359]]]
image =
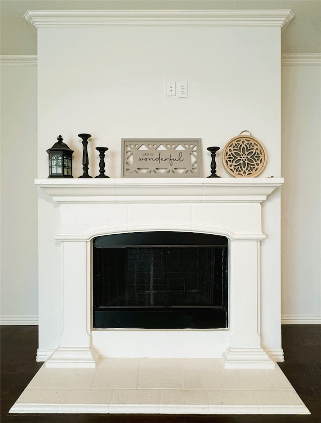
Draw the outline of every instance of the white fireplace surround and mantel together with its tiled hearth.
[[[36,183],[59,210],[60,344],[11,412],[308,413],[274,363],[281,352],[265,349],[261,337],[261,203],[273,201],[281,178]],[[118,250],[116,256],[128,248],[148,254],[173,248],[180,256],[190,248],[224,250],[228,326],[96,328],[95,248]],[[150,270],[149,260],[144,266]],[[148,295],[157,289],[154,276],[147,278]],[[119,294],[112,301],[123,304]],[[155,299],[148,301],[149,307]]]

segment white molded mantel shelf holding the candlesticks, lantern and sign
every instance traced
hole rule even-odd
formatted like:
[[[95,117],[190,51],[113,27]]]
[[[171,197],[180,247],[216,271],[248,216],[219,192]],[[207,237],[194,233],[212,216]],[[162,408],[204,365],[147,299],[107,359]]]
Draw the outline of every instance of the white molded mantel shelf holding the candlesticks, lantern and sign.
[[[283,178],[36,179],[59,203],[262,202]]]

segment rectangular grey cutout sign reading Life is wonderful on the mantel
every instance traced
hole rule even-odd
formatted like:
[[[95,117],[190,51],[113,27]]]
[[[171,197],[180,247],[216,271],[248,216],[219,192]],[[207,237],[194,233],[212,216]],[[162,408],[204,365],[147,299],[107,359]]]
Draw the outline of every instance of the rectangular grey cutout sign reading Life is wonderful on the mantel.
[[[201,140],[123,138],[121,176],[126,178],[200,177]]]

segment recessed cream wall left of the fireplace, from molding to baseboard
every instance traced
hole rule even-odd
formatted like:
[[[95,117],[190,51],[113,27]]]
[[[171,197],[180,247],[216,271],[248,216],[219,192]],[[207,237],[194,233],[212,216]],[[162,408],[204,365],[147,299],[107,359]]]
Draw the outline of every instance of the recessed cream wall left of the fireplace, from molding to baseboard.
[[[37,324],[37,67],[36,58],[9,59],[1,62],[1,323]]]

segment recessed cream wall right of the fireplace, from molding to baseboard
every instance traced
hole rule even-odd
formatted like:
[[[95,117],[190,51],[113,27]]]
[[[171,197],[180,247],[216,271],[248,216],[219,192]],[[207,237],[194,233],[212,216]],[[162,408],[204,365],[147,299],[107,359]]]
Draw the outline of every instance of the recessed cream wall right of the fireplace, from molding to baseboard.
[[[321,323],[321,57],[282,67],[282,316]]]

